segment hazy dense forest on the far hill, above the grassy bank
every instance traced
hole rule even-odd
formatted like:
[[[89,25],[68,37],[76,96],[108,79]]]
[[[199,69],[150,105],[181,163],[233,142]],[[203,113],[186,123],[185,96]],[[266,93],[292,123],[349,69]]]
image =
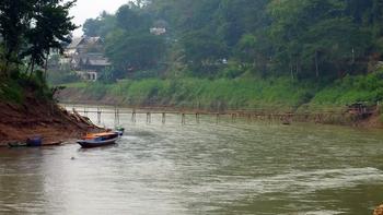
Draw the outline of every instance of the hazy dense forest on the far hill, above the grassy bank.
[[[149,29],[165,29],[150,34]],[[105,38],[115,77],[159,70],[220,79],[237,73],[330,84],[382,60],[381,0],[155,0],[123,5],[84,24]],[[162,68],[160,65],[166,65]],[[370,69],[369,69],[370,68]]]

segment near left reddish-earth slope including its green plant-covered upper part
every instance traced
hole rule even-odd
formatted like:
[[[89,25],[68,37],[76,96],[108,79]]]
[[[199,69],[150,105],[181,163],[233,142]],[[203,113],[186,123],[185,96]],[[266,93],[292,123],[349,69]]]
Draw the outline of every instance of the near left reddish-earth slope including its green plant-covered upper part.
[[[86,120],[61,109],[42,88],[11,80],[1,82],[0,146],[25,142],[35,135],[43,138],[43,144],[65,142],[97,130]]]

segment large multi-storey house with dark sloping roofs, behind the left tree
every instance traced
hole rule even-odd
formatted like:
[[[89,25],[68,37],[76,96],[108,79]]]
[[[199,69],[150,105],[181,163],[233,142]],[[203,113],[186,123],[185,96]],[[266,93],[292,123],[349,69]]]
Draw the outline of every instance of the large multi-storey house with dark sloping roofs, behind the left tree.
[[[60,59],[61,68],[69,68],[83,80],[96,81],[100,73],[111,67],[104,56],[104,41],[101,37],[73,38]]]

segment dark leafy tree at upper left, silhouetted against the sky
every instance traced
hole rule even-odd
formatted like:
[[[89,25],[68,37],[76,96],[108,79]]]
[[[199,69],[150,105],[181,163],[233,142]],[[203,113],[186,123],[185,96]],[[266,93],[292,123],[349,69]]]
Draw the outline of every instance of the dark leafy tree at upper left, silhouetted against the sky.
[[[28,58],[31,73],[35,64],[46,63],[50,49],[62,51],[62,41],[76,28],[69,16],[74,1],[5,0],[0,3],[0,33],[3,37],[3,57],[7,73],[9,63],[20,64]]]

